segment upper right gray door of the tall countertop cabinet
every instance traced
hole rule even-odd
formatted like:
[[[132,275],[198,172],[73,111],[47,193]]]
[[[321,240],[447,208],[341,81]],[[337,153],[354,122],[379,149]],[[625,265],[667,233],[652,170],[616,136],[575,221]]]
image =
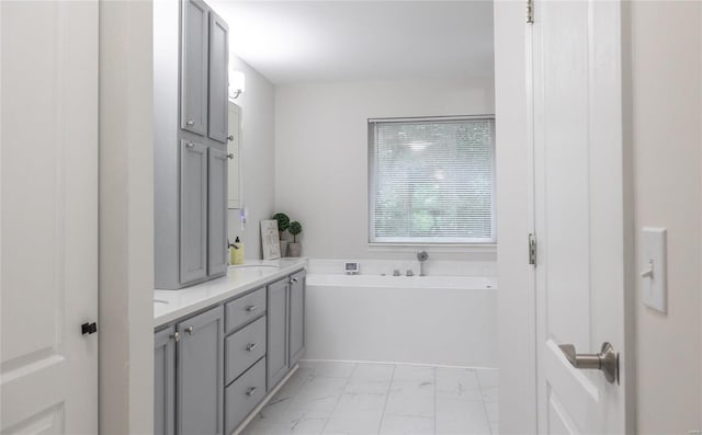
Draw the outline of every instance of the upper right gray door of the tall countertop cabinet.
[[[210,12],[210,123],[212,139],[227,142],[227,102],[229,101],[229,30],[216,13]]]

